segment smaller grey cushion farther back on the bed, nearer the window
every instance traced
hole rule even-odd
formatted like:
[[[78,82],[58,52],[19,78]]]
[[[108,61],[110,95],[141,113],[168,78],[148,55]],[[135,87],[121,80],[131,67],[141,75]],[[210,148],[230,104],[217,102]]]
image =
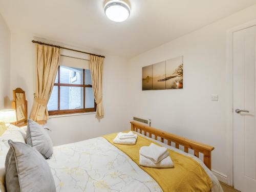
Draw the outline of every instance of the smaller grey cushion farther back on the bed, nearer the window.
[[[44,129],[37,122],[28,119],[27,144],[34,147],[46,159],[53,154],[52,140]]]

